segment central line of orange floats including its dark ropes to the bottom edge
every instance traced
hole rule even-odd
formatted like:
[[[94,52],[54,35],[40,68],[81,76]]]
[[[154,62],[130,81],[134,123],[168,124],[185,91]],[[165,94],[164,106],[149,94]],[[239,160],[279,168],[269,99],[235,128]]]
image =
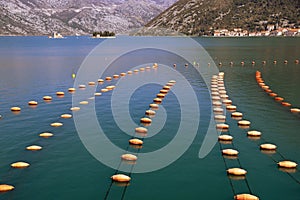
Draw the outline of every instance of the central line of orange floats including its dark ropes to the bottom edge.
[[[159,97],[154,98],[153,102],[149,105],[149,109],[145,111],[145,116],[140,119],[141,126],[136,127],[134,129],[135,134],[128,140],[129,146],[127,146],[124,154],[121,155],[121,160],[120,160],[119,166],[116,169],[115,173],[111,176],[111,184],[109,185],[109,187],[107,189],[104,199],[107,199],[109,197],[113,183],[118,183],[118,184],[126,183],[126,184],[120,185],[120,186],[124,186],[122,196],[120,199],[124,199],[127,187],[129,186],[129,182],[131,181],[131,173],[134,169],[134,165],[136,164],[136,162],[138,162],[138,154],[144,145],[144,139],[148,133],[148,129],[146,127],[151,126],[151,123],[152,123],[152,120],[150,119],[150,117],[151,118],[155,117],[155,114],[156,114],[155,110],[158,110],[159,104],[161,104],[163,102],[164,97],[168,94],[168,92],[175,85],[175,83],[176,83],[175,80],[170,80],[168,83],[166,83],[165,86],[163,86],[163,89],[164,90],[167,89],[167,92],[164,93],[163,97],[161,96],[160,101],[158,101]],[[158,94],[162,94],[162,93],[160,92]],[[156,96],[160,96],[158,94]],[[132,150],[134,150],[134,149],[136,150],[136,152],[134,152],[134,154],[132,153],[132,151],[129,151],[130,147],[132,147],[131,148]],[[121,164],[122,164],[122,162],[124,163],[124,161],[126,164],[131,165],[131,170],[127,174],[124,174],[124,173],[122,173],[122,171],[120,171]]]

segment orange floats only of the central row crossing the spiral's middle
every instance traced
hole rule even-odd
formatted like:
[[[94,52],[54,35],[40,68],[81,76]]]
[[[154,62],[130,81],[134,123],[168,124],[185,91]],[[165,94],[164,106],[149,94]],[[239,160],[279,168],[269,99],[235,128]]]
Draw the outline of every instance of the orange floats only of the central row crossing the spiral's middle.
[[[157,110],[159,108],[159,104],[162,103],[164,97],[166,94],[168,94],[171,87],[176,83],[175,80],[170,80],[165,86],[163,86],[162,90],[160,90],[160,93],[158,93],[156,98],[153,99],[153,102],[149,105],[149,109],[145,111],[146,117],[142,117],[140,119],[140,123],[144,127],[137,127],[135,128],[135,133],[141,136],[142,138],[145,137],[148,133],[148,129],[146,127],[150,126],[152,123],[152,119]],[[163,92],[162,92],[163,91]],[[144,144],[144,141],[139,138],[132,138],[129,140],[129,145],[133,146],[134,148],[142,148],[142,145]],[[135,161],[137,161],[138,157],[137,155],[133,154],[123,154],[121,156],[121,159],[126,161],[129,164],[135,164]],[[125,174],[115,174],[111,176],[112,181],[118,182],[118,183],[129,183],[131,180],[131,177]]]

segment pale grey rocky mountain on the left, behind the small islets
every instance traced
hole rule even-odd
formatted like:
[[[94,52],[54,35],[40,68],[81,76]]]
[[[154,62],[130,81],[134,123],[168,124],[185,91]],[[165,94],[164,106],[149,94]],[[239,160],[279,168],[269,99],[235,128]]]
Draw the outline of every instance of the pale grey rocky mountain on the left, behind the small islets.
[[[176,0],[0,0],[0,35],[124,33]]]

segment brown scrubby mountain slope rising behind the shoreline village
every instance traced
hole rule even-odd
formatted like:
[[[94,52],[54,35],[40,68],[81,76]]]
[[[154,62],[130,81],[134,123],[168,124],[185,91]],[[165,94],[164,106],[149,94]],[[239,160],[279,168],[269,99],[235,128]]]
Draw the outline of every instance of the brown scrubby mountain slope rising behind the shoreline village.
[[[216,29],[263,31],[300,26],[299,0],[179,0],[146,27],[166,28],[187,35]]]

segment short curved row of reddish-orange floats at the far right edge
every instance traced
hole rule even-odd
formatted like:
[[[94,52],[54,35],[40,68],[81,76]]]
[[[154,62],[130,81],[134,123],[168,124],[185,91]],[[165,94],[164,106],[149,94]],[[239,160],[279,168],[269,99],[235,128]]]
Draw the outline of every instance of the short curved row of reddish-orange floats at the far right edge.
[[[273,97],[275,101],[279,102],[282,106],[285,107],[289,107],[290,111],[292,113],[300,113],[300,109],[299,108],[293,108],[292,104],[284,101],[283,97],[280,97],[277,93],[275,93],[273,90],[271,90],[270,86],[266,85],[265,81],[263,80],[262,76],[261,76],[261,72],[260,71],[256,71],[255,73],[255,78],[256,78],[256,82],[257,84],[270,96]]]

